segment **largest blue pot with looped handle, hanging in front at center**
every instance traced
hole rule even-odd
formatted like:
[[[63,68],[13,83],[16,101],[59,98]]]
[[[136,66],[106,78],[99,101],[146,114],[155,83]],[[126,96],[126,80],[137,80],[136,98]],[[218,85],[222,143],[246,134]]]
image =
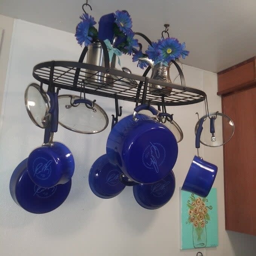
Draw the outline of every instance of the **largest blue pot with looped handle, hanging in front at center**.
[[[126,116],[111,130],[107,139],[107,156],[111,163],[137,183],[162,180],[174,167],[178,155],[177,141],[162,123],[136,112],[152,106],[140,105],[134,115]]]

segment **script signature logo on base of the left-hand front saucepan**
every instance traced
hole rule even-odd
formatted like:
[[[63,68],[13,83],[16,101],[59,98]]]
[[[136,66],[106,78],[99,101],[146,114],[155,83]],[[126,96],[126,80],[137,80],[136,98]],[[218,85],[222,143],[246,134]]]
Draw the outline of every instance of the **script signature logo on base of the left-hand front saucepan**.
[[[38,157],[33,163],[34,177],[40,180],[47,180],[50,177],[52,160],[47,160],[44,157]]]

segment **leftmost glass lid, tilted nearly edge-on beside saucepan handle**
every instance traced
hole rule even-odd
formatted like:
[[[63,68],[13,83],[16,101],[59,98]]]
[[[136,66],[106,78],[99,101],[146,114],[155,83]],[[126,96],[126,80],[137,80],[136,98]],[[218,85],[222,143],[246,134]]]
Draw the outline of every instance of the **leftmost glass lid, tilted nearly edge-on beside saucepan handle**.
[[[46,128],[50,123],[50,102],[47,94],[40,90],[40,85],[32,83],[26,88],[24,99],[32,122],[40,128]]]

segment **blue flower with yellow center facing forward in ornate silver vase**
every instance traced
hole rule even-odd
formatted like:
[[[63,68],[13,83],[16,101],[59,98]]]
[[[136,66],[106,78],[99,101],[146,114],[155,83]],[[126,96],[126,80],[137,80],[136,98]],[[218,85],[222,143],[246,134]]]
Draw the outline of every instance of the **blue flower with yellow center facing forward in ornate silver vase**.
[[[181,44],[173,37],[159,40],[158,49],[160,50],[160,58],[166,62],[179,58],[182,51]]]

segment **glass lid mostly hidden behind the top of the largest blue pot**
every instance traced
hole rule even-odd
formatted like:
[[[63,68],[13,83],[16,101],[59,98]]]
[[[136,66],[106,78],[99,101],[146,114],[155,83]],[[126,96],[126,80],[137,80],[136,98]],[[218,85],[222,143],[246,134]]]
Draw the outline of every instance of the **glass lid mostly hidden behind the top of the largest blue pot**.
[[[140,114],[145,114],[155,120],[155,116],[149,110],[141,110]],[[181,140],[183,140],[183,132],[180,126],[174,120],[170,120],[169,117],[167,120],[166,117],[162,117],[162,119],[159,120],[173,133],[177,142],[181,142]]]

